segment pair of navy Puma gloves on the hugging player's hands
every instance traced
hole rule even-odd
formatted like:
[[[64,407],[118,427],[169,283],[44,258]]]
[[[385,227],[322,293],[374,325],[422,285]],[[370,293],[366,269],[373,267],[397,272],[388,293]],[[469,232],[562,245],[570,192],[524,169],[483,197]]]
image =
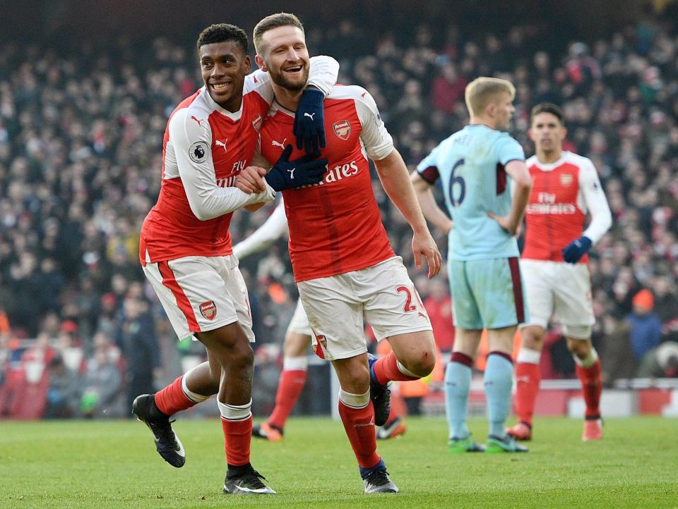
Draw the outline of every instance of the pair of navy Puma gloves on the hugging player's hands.
[[[297,137],[297,148],[306,155],[290,161],[292,145],[287,145],[280,159],[266,174],[266,182],[275,191],[317,184],[327,171],[327,159],[320,157],[320,147],[325,147],[325,94],[314,88],[304,90],[295,115],[292,133]]]

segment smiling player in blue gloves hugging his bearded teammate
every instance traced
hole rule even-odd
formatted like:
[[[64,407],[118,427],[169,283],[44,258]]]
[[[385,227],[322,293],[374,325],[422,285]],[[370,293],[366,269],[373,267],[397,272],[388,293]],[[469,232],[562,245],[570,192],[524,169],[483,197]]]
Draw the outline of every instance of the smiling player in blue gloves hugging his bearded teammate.
[[[321,180],[326,161],[281,158],[266,176],[262,192],[249,195],[234,188],[238,173],[254,155],[273,89],[266,73],[246,76],[251,61],[247,37],[238,27],[212,25],[203,30],[197,45],[205,86],[169,117],[160,197],[144,220],[140,257],[177,336],[198,338],[206,346],[208,362],[155,395],[138,396],[133,412],[153,431],[162,458],[182,467],[184,448],[169,415],[218,393],[228,464],[225,493],[274,493],[249,462],[254,334],[228,227],[232,211],[273,200],[277,190]],[[336,80],[338,66],[328,57],[325,63],[321,75],[327,90]],[[311,98],[317,94],[323,95],[314,90]],[[322,116],[322,101],[307,106],[305,102],[300,111],[311,119]],[[297,127],[310,127],[311,137],[318,138],[316,145],[322,140],[317,135],[322,125],[314,130],[302,122]],[[296,170],[295,181],[287,173],[290,164]]]

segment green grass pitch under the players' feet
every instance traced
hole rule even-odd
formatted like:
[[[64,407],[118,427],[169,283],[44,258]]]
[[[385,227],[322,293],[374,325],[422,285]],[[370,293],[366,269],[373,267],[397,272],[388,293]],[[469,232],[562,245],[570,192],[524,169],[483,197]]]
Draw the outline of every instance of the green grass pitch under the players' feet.
[[[678,508],[678,422],[608,419],[581,442],[576,419],[537,419],[530,453],[450,455],[441,418],[407,419],[379,442],[398,495],[367,496],[340,422],[290,419],[285,440],[253,441],[253,464],[275,496],[221,493],[217,420],[179,419],[186,465],[155,452],[136,421],[0,422],[1,508]],[[472,420],[477,439],[483,420]]]

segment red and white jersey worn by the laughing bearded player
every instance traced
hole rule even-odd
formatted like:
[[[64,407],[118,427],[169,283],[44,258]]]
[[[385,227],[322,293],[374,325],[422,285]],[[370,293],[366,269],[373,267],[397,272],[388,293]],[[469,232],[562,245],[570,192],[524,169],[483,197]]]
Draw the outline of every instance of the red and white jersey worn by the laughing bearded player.
[[[271,106],[260,135],[261,154],[275,164],[292,143],[294,114]],[[290,259],[295,280],[335,276],[364,269],[394,255],[372,192],[369,161],[393,151],[374,99],[362,87],[335,85],[325,99],[328,159],[323,181],[287,190],[285,214],[290,227]],[[290,159],[302,157],[296,148]]]

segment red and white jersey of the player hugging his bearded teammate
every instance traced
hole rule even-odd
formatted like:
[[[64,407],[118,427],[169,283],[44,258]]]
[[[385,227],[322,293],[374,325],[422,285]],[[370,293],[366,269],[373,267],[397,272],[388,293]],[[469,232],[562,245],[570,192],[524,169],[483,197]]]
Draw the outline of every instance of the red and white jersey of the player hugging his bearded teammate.
[[[328,56],[311,59],[313,85],[331,90],[338,67]],[[271,188],[248,195],[234,187],[251,163],[271,102],[270,76],[256,70],[245,78],[239,111],[223,109],[206,87],[174,109],[162,142],[160,196],[141,228],[141,264],[231,254],[232,212],[275,197]]]

